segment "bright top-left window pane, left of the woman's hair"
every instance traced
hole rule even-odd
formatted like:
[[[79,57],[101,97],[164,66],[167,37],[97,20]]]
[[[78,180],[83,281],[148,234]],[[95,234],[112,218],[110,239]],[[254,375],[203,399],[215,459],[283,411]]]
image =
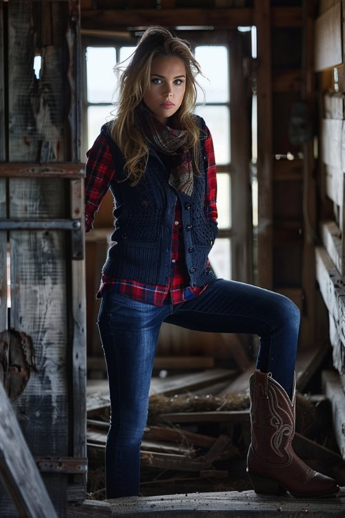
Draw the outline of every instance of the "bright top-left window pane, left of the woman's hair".
[[[86,76],[88,102],[111,102],[116,86],[113,68],[116,50],[113,47],[88,47],[86,49]]]

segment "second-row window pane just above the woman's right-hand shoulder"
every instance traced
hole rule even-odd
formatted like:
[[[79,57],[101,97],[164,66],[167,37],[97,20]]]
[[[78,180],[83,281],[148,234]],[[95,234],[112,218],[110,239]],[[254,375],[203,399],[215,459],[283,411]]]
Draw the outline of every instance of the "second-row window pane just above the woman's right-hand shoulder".
[[[203,117],[211,132],[216,163],[230,163],[230,117],[228,106],[197,106],[195,113]]]

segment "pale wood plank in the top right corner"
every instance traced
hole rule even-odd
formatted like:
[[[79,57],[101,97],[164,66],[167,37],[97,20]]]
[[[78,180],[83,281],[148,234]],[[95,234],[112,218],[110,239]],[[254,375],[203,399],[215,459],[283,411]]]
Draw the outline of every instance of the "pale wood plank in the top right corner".
[[[342,2],[315,20],[315,70],[342,64]]]

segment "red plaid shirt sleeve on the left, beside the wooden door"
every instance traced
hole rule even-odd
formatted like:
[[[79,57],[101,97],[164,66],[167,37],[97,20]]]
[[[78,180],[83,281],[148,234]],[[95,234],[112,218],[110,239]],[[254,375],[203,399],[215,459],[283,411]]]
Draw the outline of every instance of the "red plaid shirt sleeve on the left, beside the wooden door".
[[[99,135],[92,148],[86,153],[85,179],[85,230],[89,232],[95,220],[103,196],[115,174],[112,155],[103,135]]]

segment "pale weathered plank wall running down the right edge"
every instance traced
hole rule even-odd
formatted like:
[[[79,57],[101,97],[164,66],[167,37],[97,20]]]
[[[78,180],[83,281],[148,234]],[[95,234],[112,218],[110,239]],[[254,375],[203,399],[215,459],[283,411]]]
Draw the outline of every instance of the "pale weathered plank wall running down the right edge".
[[[315,247],[316,278],[328,309],[329,340],[336,373],[324,373],[325,391],[331,397],[339,449],[345,459],[345,269],[344,269],[344,3],[321,1],[315,21],[315,72],[318,88],[319,197]]]

